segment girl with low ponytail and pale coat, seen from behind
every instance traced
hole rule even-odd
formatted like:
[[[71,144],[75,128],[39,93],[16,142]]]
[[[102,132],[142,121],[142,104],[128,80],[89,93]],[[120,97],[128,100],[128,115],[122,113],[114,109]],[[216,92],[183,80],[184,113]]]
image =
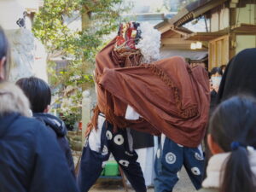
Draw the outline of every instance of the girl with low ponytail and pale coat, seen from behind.
[[[256,101],[235,96],[212,114],[208,145],[212,158],[200,192],[256,191]]]

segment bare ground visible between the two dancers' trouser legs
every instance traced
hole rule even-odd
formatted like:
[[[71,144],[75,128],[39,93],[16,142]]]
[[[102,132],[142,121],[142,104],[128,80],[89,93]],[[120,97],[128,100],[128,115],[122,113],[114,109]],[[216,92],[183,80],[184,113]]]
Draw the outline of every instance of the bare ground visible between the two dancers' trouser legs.
[[[106,178],[100,178],[97,183],[90,189],[89,192],[121,192],[125,191],[122,181],[111,180]],[[180,180],[173,189],[173,192],[195,192],[192,183],[190,182],[187,172],[183,169],[180,172]],[[129,189],[129,192],[134,192],[133,189]],[[148,192],[154,192],[154,188],[149,188]]]

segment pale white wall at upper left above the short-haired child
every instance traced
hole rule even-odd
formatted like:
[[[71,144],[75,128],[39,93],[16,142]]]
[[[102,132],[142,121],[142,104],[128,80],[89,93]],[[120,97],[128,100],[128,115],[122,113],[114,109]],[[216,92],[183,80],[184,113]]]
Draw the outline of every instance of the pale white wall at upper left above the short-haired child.
[[[0,26],[5,30],[11,47],[10,80],[36,76],[47,81],[44,46],[34,38],[31,28],[20,28],[16,21],[26,9],[37,9],[37,0],[0,0]]]

